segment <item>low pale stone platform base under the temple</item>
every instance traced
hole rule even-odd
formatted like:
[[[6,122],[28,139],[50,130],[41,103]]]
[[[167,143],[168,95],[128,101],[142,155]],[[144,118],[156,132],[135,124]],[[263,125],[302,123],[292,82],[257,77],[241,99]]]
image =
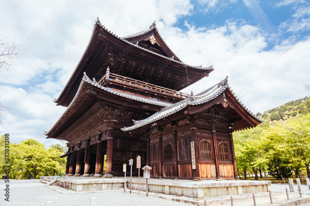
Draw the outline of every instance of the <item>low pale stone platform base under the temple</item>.
[[[44,179],[45,177],[41,177]],[[124,178],[95,178],[95,177],[58,177],[55,185],[66,187],[75,191],[90,190],[111,190],[123,189]],[[140,178],[140,190],[145,191],[146,181]],[[258,192],[268,192],[270,190],[270,181],[253,180],[202,180],[194,182],[193,180],[170,180],[170,179],[149,179],[148,191],[170,195],[187,196],[193,198],[241,195]],[[130,177],[126,177],[126,189],[130,187]],[[138,190],[138,178],[132,178],[132,189]]]

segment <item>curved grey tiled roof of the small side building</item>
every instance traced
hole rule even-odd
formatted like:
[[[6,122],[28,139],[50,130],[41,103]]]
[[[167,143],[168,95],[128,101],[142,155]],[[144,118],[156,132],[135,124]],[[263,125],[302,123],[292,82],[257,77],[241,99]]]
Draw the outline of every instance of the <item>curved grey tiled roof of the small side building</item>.
[[[237,104],[239,104],[244,109],[244,111],[246,111],[252,118],[257,120],[259,123],[261,123],[263,121],[260,118],[258,118],[257,116],[255,116],[251,111],[249,111],[243,104],[241,104],[241,101],[239,101],[239,99],[237,99],[237,97],[234,95],[234,93],[232,93],[232,90],[228,85],[228,76],[227,76],[224,80],[222,80],[218,84],[210,87],[209,89],[207,89],[207,90],[205,90],[205,91],[203,91],[197,95],[194,95],[192,97],[184,99],[178,103],[175,103],[173,105],[169,105],[168,107],[165,107],[165,108],[157,111],[155,114],[153,114],[152,116],[149,116],[148,118],[146,118],[144,120],[139,120],[139,121],[134,120],[133,126],[121,128],[121,130],[126,131],[126,132],[132,131],[132,130],[141,128],[145,125],[149,125],[155,121],[166,118],[168,116],[171,116],[178,111],[184,110],[184,108],[188,108],[191,105],[194,106],[194,105],[200,105],[200,104],[207,103],[207,102],[219,97],[219,95],[223,94],[225,90],[228,90],[228,92],[236,100]]]

